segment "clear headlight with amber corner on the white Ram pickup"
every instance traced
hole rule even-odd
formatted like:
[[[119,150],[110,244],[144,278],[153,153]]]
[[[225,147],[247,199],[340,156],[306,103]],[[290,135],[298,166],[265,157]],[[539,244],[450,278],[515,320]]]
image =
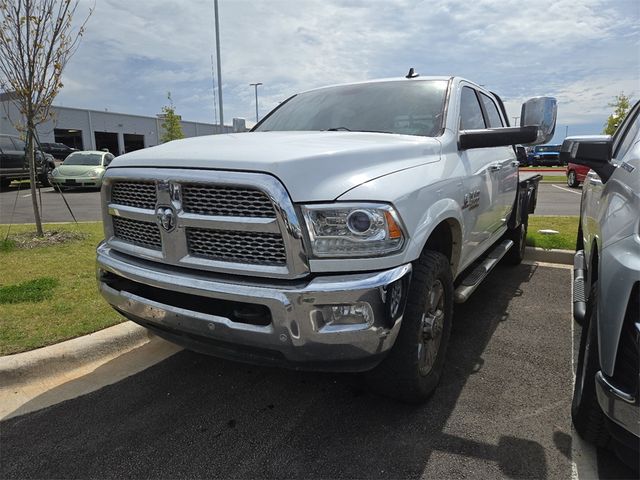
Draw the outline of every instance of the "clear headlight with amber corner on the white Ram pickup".
[[[302,213],[316,257],[382,256],[404,244],[400,218],[389,205],[306,205]]]

